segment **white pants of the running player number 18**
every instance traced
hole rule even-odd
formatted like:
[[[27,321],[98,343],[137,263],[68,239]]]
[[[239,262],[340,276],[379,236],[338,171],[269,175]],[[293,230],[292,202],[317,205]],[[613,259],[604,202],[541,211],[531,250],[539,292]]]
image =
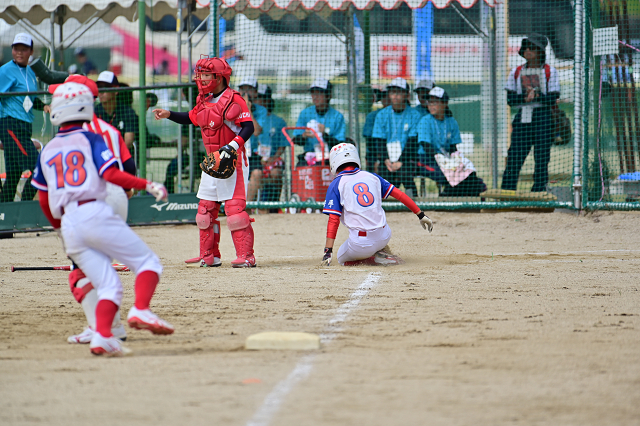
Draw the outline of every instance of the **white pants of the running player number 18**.
[[[122,301],[122,283],[111,259],[118,259],[136,275],[162,273],[158,256],[104,201],[72,203],[64,209],[61,230],[66,252],[91,280],[98,300],[111,300],[118,306]]]

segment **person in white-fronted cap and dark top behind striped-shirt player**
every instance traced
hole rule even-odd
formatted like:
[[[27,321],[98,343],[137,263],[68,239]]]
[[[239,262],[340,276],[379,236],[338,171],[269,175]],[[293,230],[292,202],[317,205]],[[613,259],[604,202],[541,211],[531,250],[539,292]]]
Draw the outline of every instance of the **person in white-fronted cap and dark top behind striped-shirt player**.
[[[102,71],[96,81],[99,89],[120,87],[118,77],[112,71]],[[138,131],[138,116],[126,102],[119,102],[117,92],[101,91],[100,103],[95,107],[98,118],[111,124],[122,134],[127,148],[133,148]]]

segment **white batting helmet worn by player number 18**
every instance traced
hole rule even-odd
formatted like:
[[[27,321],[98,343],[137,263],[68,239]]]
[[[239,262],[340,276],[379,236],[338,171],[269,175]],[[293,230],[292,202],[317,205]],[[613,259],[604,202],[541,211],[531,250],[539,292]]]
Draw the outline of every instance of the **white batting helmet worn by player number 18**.
[[[53,92],[51,124],[93,120],[93,93],[84,84],[64,83]]]

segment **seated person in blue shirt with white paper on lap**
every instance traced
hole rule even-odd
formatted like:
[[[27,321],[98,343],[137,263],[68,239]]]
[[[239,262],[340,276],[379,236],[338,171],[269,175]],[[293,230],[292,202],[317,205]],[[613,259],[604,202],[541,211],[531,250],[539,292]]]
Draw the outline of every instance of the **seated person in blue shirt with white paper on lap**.
[[[478,196],[487,189],[477,177],[473,163],[458,152],[460,127],[448,114],[449,95],[441,87],[429,92],[429,112],[418,125],[418,143],[426,153],[419,168],[441,188],[440,196]]]

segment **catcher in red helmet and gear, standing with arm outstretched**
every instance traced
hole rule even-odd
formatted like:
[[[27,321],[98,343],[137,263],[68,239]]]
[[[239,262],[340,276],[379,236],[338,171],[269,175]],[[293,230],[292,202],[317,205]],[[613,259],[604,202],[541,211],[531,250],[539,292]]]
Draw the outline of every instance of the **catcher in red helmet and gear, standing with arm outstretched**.
[[[194,124],[202,131],[207,157],[200,164],[202,178],[197,197],[200,199],[196,223],[200,228],[200,257],[187,263],[201,266],[222,264],[220,221],[218,212],[222,202],[227,215],[237,258],[234,268],[256,266],[253,255],[253,219],[245,211],[249,162],[244,144],[253,134],[253,121],[246,102],[229,88],[231,67],[221,58],[201,58],[196,63],[195,81],[198,85],[196,106],[189,112],[155,109],[156,120],[168,118],[178,124]]]

